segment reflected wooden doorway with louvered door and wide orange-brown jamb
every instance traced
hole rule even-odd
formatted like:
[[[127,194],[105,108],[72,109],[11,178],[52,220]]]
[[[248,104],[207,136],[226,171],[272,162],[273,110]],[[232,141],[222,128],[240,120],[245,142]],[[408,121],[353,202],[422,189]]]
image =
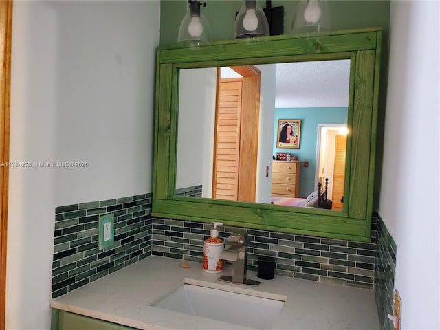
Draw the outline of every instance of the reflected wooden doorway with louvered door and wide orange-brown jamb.
[[[212,198],[255,201],[261,72],[217,69]]]

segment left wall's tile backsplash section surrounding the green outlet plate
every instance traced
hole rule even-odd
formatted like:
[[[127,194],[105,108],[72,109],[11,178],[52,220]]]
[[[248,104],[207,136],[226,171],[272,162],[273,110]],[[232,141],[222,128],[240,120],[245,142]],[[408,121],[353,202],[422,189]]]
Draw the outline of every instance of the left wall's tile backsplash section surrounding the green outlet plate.
[[[100,214],[115,216],[115,244],[98,249]],[[151,254],[151,194],[55,209],[52,298]]]

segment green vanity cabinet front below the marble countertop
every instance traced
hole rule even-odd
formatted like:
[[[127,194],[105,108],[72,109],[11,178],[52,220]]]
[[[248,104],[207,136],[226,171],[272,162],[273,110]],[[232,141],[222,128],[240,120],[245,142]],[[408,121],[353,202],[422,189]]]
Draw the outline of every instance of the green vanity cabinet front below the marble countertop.
[[[135,330],[136,328],[90,318],[80,314],[52,309],[51,330]]]

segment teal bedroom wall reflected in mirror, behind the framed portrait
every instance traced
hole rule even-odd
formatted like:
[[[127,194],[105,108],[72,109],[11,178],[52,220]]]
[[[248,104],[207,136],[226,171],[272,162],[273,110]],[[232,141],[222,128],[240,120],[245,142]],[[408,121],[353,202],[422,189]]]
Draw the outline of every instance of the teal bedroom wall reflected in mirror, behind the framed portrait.
[[[318,143],[318,124],[347,124],[346,107],[341,108],[287,108],[275,109],[274,156],[276,153],[292,153],[300,162],[309,162],[309,167],[301,167],[300,197],[307,197],[315,186],[316,146]],[[299,149],[276,148],[278,119],[300,119],[301,135]]]

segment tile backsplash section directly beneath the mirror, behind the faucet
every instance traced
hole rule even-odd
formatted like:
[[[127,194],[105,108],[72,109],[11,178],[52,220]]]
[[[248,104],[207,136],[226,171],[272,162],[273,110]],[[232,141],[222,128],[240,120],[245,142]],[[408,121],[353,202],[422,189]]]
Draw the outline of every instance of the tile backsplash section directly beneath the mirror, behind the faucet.
[[[151,254],[203,261],[203,241],[210,223],[153,219]],[[223,239],[243,228],[218,226]],[[248,270],[259,256],[276,259],[275,274],[311,281],[373,289],[375,244],[248,229]]]

